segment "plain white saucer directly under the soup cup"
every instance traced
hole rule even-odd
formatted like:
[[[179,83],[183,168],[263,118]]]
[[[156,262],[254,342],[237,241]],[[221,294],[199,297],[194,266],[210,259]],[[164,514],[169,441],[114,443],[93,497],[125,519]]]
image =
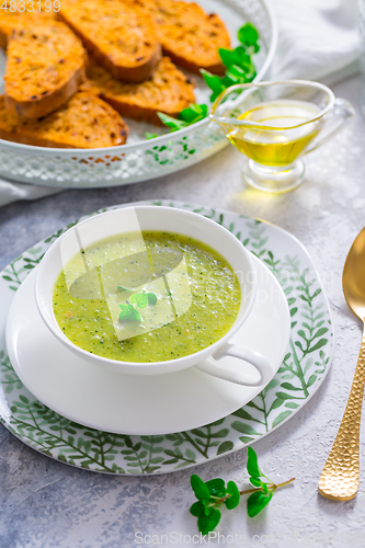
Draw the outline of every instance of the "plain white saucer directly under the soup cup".
[[[289,311],[276,278],[255,256],[252,259],[258,276],[256,301],[230,342],[261,352],[270,361],[274,376],[289,341]],[[25,387],[67,419],[119,434],[182,432],[227,416],[264,388],[235,385],[194,367],[140,377],[88,364],[69,352],[44,324],[34,300],[34,277],[32,271],[12,301],[7,323],[8,353]],[[231,357],[220,363],[242,367],[242,362]]]

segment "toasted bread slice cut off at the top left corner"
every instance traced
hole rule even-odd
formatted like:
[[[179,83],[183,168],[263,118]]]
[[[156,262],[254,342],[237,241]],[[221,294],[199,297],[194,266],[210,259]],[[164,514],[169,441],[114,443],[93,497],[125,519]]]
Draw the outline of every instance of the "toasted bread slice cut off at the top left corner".
[[[5,3],[5,2],[3,2]],[[2,4],[3,5],[3,4]],[[30,11],[10,11],[10,1],[8,0],[7,11],[1,5],[1,16],[0,16],[0,47],[7,48],[8,38],[11,32],[14,30],[32,28],[32,26],[55,20],[55,12],[50,10],[38,11],[34,9],[33,12]]]

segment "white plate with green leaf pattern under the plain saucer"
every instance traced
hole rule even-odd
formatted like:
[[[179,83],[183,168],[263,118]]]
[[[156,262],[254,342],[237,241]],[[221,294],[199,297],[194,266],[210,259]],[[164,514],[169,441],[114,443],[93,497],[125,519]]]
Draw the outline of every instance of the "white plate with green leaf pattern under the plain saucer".
[[[333,353],[329,305],[307,251],[295,238],[277,227],[232,213],[178,202],[146,203],[183,207],[216,220],[269,266],[287,297],[290,341],[283,364],[265,389],[243,408],[212,424],[148,436],[92,430],[37,401],[18,378],[7,355],[5,320],[14,292],[50,243],[69,227],[24,252],[0,275],[0,420],[34,449],[98,472],[171,472],[253,443],[287,421],[308,401],[323,381]]]

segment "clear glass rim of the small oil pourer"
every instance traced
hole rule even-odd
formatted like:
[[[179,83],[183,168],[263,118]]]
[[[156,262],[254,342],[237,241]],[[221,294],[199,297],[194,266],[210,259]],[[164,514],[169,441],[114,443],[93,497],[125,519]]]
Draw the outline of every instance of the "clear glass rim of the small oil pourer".
[[[253,88],[267,88],[270,85],[304,85],[306,88],[318,88],[319,90],[322,90],[324,93],[327,93],[327,95],[329,96],[329,102],[328,102],[328,105],[324,106],[324,109],[322,109],[312,118],[306,119],[306,122],[301,122],[300,124],[296,124],[295,126],[284,126],[284,127],[280,127],[280,128],[277,126],[276,127],[275,126],[265,126],[265,125],[260,124],[258,122],[248,122],[248,121],[238,119],[238,118],[235,118],[235,122],[232,122],[232,118],[226,118],[223,116],[215,117],[214,113],[212,113],[212,111],[214,109],[218,107],[220,101],[224,98],[228,96],[229,93],[233,92],[235,90],[238,90],[238,89],[242,89],[242,90],[248,89],[249,90],[251,88],[252,89]],[[322,116],[324,116],[324,114],[327,114],[328,112],[330,112],[333,109],[334,101],[335,101],[335,96],[334,96],[333,91],[330,88],[328,88],[323,83],[313,82],[310,80],[277,80],[274,82],[264,81],[264,82],[256,82],[256,83],[254,83],[254,82],[252,82],[252,83],[238,83],[236,85],[231,85],[230,88],[227,88],[227,90],[224,91],[221,93],[221,95],[215,101],[215,103],[212,105],[209,119],[212,119],[212,122],[215,122],[218,124],[219,123],[220,124],[235,124],[235,126],[260,127],[260,129],[267,129],[267,130],[275,130],[275,132],[277,132],[278,129],[282,129],[282,130],[295,129],[296,127],[305,126],[306,124],[310,124],[311,122],[316,122],[317,119],[320,119]]]

